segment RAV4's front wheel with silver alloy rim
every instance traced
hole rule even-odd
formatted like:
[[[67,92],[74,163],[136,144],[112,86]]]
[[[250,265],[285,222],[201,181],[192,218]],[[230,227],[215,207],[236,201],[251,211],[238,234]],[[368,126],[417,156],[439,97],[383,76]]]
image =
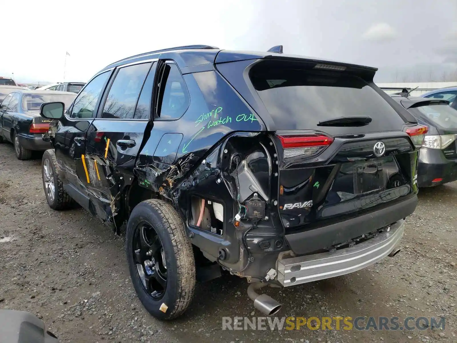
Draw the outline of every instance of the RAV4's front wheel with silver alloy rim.
[[[67,192],[60,180],[56,155],[54,150],[46,150],[41,160],[41,174],[43,178],[44,194],[51,209],[69,209],[74,201]]]

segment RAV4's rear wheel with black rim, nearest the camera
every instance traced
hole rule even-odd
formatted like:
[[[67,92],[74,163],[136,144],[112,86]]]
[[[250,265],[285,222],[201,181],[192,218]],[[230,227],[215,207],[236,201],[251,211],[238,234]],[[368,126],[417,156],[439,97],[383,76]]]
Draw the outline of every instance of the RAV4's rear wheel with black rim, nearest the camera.
[[[195,260],[175,209],[158,199],[138,204],[125,244],[133,287],[146,310],[158,319],[183,314],[194,295]]]

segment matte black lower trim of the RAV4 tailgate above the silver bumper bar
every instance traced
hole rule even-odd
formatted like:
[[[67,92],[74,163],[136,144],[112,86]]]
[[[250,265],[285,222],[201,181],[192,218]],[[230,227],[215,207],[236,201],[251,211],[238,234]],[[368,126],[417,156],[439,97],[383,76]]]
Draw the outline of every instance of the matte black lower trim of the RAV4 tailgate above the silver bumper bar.
[[[395,204],[387,203],[374,211],[360,214],[354,218],[311,230],[290,233],[285,235],[285,238],[295,255],[329,249],[336,244],[350,241],[404,219],[414,212],[416,205],[417,195],[412,194]]]

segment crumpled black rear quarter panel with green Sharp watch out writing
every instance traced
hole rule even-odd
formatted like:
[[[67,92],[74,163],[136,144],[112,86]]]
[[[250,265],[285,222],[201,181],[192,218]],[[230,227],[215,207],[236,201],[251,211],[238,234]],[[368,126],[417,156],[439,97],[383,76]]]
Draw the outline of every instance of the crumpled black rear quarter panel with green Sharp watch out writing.
[[[186,74],[184,79],[190,94],[190,106],[177,120],[154,120],[150,137],[134,169],[140,186],[174,202],[172,190],[181,181],[191,177],[189,172],[223,137],[236,131],[265,130],[262,120],[217,71]],[[175,135],[170,135],[170,139],[164,141],[166,134]],[[182,134],[182,137],[178,134]],[[180,137],[181,142],[174,154]],[[173,153],[164,154],[164,142],[170,148],[167,151]],[[157,149],[158,145],[160,150]],[[181,214],[185,216],[186,210],[181,208]]]

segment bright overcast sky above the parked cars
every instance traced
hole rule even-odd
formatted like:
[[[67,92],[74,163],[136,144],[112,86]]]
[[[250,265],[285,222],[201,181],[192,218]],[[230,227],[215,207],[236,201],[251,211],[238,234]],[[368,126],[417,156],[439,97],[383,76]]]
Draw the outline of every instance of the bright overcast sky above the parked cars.
[[[457,81],[456,0],[23,0],[5,1],[1,16],[0,76],[19,82],[63,81],[66,52],[65,80],[87,81],[118,59],[186,44],[282,44],[377,67],[378,82]]]

